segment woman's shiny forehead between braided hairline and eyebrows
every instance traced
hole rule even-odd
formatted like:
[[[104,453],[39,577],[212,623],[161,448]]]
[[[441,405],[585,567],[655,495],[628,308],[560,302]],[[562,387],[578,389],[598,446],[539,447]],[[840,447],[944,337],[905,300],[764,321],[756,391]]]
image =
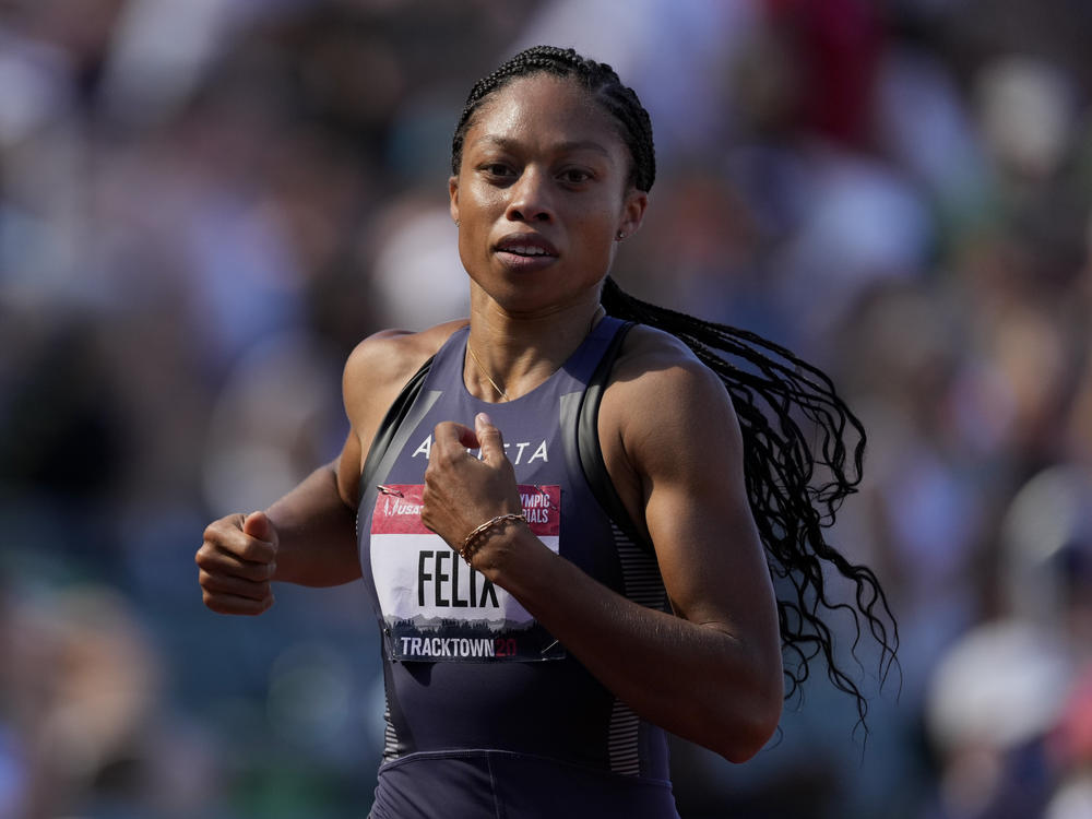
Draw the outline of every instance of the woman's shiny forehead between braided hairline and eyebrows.
[[[617,123],[574,79],[538,73],[490,94],[466,133],[468,146],[492,138],[530,144],[596,142],[626,151]]]

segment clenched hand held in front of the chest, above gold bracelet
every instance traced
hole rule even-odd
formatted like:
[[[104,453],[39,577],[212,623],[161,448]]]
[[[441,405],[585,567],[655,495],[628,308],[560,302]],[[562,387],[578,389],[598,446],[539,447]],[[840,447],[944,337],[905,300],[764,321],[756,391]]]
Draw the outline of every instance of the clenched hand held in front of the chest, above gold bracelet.
[[[467,451],[474,449],[480,449],[480,460]],[[458,551],[480,524],[521,511],[515,471],[489,416],[478,413],[474,429],[439,424],[425,470],[422,522]]]

